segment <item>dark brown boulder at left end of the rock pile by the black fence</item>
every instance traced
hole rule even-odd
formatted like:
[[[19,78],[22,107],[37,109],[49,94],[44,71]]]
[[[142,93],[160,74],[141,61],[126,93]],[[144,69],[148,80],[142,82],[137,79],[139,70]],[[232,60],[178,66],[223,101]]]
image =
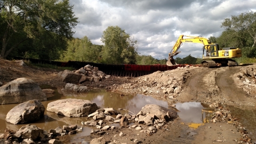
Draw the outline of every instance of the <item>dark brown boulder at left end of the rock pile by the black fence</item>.
[[[82,75],[73,73],[72,71],[66,69],[62,73],[60,72],[58,76],[61,78],[62,82],[76,84],[79,82]]]

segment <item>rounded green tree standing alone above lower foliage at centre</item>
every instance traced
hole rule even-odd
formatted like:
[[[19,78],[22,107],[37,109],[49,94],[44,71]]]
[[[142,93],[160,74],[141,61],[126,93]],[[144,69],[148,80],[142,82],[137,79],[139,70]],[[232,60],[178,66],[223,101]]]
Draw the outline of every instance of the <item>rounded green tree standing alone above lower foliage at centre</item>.
[[[118,26],[109,26],[103,31],[101,42],[102,62],[111,64],[135,63],[137,41]]]

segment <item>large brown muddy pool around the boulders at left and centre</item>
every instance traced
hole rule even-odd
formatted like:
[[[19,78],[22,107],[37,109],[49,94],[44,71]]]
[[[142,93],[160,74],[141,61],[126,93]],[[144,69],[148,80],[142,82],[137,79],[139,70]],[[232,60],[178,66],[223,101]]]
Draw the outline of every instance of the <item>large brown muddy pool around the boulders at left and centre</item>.
[[[49,89],[49,86],[41,86],[42,89]],[[119,93],[113,93],[113,92],[106,92],[105,90],[94,90],[89,91],[88,93],[83,94],[70,94],[70,93],[63,93],[61,91],[61,88],[57,89],[55,87],[50,87],[50,89],[53,89],[55,93],[53,94],[53,97],[47,98],[47,101],[42,101],[45,109],[47,108],[47,104],[49,102],[60,100],[60,99],[68,99],[68,98],[75,98],[75,99],[84,99],[84,100],[90,100],[92,102],[95,102],[97,106],[100,106],[102,108],[106,107],[112,107],[114,109],[122,108],[129,111],[132,111],[132,113],[137,114],[141,108],[147,104],[156,104],[163,107],[168,107],[168,104],[166,101],[157,100],[152,97],[147,97],[145,95],[141,94],[135,94],[135,95],[125,95],[120,96]],[[50,95],[49,95],[50,96]],[[10,111],[14,106],[17,106],[18,104],[10,104],[10,105],[0,105],[0,133],[3,133],[4,130],[10,129],[17,131],[20,129],[21,126],[26,124],[20,124],[20,125],[14,125],[5,122],[5,117],[8,111]],[[119,111],[121,114],[129,113],[129,111],[121,110]],[[55,113],[51,113],[49,111],[45,110],[44,118],[42,118],[40,121],[34,124],[41,129],[44,129],[46,131],[50,129],[55,129],[58,126],[62,125],[73,125],[76,124],[78,127],[82,126],[82,121],[89,121],[90,119],[87,119],[87,117],[65,117],[61,115],[57,115]],[[76,134],[75,137],[80,137],[82,135],[89,135],[91,131],[90,127],[84,127],[84,130],[82,133]]]

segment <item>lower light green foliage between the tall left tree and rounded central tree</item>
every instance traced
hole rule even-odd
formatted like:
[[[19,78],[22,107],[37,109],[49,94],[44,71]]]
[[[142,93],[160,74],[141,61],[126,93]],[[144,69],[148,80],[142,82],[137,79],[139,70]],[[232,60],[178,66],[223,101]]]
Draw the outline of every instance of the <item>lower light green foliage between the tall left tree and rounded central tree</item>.
[[[101,50],[102,46],[92,44],[87,36],[74,38],[68,41],[67,51],[63,52],[61,60],[100,62]]]

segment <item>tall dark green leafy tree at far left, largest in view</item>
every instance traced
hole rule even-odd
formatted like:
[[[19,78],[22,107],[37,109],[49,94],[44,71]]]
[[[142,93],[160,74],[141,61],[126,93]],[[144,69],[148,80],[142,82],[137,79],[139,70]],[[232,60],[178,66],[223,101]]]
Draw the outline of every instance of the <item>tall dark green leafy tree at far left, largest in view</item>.
[[[56,53],[65,47],[49,47],[49,45],[56,41],[63,43],[66,38],[71,38],[74,34],[72,28],[78,23],[69,0],[1,0],[0,7],[3,19],[0,25],[5,26],[1,34],[3,39],[1,58],[6,58],[11,51],[28,39],[39,42],[38,49],[47,49],[46,55],[54,50]],[[17,35],[22,36],[17,37]],[[14,37],[15,43],[10,43]],[[44,41],[41,41],[42,38]],[[55,41],[49,44],[47,38],[54,38]]]

